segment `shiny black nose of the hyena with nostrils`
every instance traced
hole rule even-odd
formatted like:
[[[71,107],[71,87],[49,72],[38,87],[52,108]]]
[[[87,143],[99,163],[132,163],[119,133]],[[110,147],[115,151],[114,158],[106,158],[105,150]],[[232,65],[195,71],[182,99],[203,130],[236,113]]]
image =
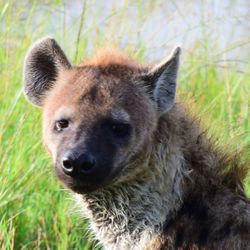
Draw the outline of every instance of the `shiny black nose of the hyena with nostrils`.
[[[61,160],[63,172],[67,175],[74,173],[90,174],[96,165],[96,160],[91,153],[74,154],[67,152]]]

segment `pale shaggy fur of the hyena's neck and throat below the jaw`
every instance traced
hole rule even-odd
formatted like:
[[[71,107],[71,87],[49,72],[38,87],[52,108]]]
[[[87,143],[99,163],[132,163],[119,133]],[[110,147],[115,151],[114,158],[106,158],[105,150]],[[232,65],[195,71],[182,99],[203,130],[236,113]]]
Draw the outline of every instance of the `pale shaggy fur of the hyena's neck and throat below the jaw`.
[[[180,207],[181,154],[168,155],[162,143],[158,146],[144,166],[147,176],[80,197],[105,249],[143,249]]]

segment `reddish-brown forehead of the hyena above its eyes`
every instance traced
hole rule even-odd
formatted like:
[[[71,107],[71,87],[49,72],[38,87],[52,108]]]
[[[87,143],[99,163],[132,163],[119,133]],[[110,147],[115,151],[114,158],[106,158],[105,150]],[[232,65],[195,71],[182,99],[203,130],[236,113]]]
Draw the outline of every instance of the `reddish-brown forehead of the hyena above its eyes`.
[[[119,70],[110,72],[99,67],[79,67],[62,72],[45,99],[45,109],[50,114],[58,110],[70,112],[70,109],[91,109],[95,113],[115,106],[114,115],[124,116],[125,112],[119,111],[119,107],[131,109],[137,106],[141,90],[133,83],[132,71]]]

